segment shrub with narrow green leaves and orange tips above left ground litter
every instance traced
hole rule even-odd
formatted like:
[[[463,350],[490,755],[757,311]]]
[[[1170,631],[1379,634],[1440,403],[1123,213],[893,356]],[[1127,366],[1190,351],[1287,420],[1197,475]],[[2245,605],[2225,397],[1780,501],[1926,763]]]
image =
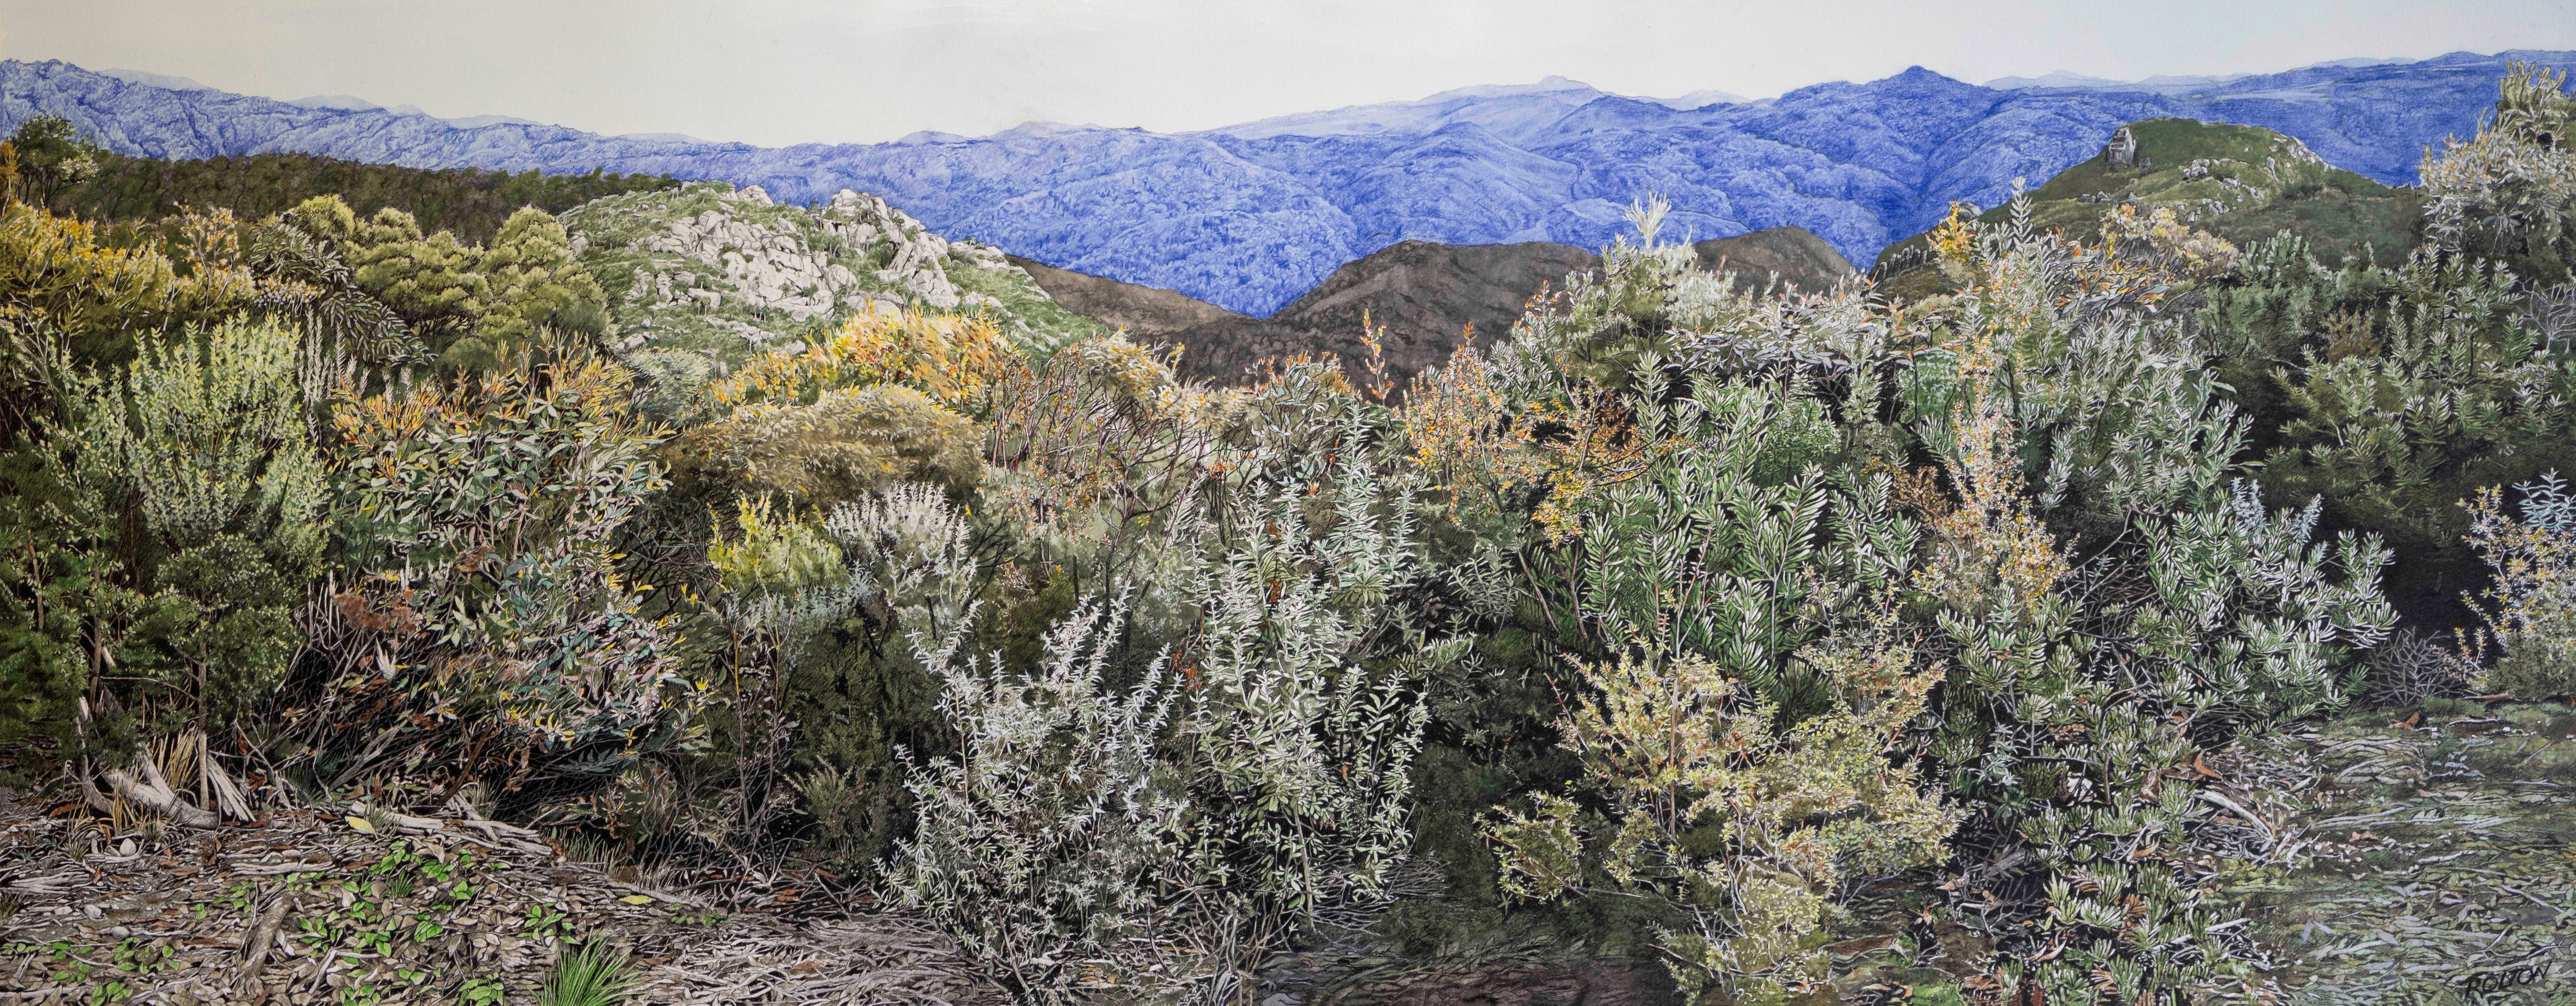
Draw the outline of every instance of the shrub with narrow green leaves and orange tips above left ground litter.
[[[500,789],[587,787],[693,743],[698,691],[665,619],[618,567],[616,534],[662,490],[631,374],[598,359],[520,364],[332,410],[340,562],[307,611],[322,699],[296,712],[335,776],[353,735],[402,725],[433,771]],[[402,722],[350,730],[368,709]],[[415,717],[417,715],[417,717]],[[355,764],[343,758],[355,756]]]

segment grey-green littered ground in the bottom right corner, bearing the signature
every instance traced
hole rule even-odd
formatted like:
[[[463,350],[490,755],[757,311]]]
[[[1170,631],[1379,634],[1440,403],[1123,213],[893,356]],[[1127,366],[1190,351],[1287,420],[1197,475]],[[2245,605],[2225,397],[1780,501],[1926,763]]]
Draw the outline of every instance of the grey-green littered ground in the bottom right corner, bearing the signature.
[[[2357,712],[2241,751],[2290,784],[2300,856],[2233,867],[2223,890],[2293,1006],[2555,1003],[2576,988],[2576,709],[2427,712]],[[2295,787],[2300,771],[2313,784]]]

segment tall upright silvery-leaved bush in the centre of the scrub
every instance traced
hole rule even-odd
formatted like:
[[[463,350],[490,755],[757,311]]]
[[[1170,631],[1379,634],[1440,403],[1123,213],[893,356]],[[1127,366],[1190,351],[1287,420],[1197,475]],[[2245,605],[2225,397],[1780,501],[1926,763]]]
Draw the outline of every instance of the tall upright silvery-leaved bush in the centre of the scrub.
[[[1427,575],[1409,482],[1373,472],[1358,431],[1340,451],[1332,524],[1301,488],[1255,495],[1226,557],[1193,591],[1185,712],[1198,874],[1234,898],[1249,944],[1321,905],[1376,898],[1412,843],[1412,758],[1427,709],[1409,681],[1453,660],[1401,616]]]

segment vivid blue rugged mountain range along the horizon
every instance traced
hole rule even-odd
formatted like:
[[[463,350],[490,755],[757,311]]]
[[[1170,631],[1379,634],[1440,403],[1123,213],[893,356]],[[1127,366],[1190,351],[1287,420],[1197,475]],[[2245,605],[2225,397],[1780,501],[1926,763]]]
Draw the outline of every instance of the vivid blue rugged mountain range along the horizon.
[[[1270,315],[1399,240],[1597,248],[1646,191],[1677,237],[1806,227],[1855,263],[1947,214],[1994,206],[2094,155],[2120,124],[2267,126],[2339,168],[2414,183],[2427,144],[2468,137],[2506,59],[2344,59],[2251,77],[1981,88],[1914,67],[1780,98],[1625,98],[1551,77],[1193,134],[1025,124],[992,137],[752,147],[600,137],[505,116],[433,119],[366,101],[273,101],[142,72],[0,62],[0,129],[59,113],[144,157],[309,152],[412,168],[670,173],[778,201],[871,191],[951,237]],[[160,83],[155,83],[160,80]],[[178,85],[173,85],[178,83]]]

